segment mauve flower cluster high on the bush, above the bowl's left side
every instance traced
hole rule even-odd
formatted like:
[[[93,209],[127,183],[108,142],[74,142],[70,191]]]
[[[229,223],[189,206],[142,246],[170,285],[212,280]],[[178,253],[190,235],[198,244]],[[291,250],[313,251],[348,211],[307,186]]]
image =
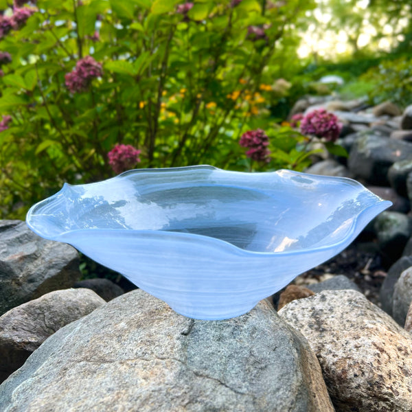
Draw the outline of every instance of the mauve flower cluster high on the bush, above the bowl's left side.
[[[71,93],[87,91],[94,78],[102,76],[102,64],[91,56],[86,56],[76,63],[76,67],[65,74],[66,86]]]

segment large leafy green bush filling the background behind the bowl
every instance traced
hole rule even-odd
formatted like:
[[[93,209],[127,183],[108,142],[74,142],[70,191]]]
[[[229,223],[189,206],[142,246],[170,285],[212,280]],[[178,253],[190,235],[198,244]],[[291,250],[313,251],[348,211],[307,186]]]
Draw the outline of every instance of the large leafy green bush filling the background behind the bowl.
[[[198,0],[187,14],[177,3],[38,0],[26,25],[1,38],[12,56],[0,78],[0,115],[12,116],[0,133],[3,216],[23,217],[65,181],[113,176],[115,144],[139,148],[142,168],[245,167],[240,135],[275,126],[267,108],[282,93],[273,85],[299,68],[293,28],[314,3]],[[70,93],[65,74],[88,55],[103,76]],[[294,145],[279,150],[286,157],[274,165],[297,166]]]

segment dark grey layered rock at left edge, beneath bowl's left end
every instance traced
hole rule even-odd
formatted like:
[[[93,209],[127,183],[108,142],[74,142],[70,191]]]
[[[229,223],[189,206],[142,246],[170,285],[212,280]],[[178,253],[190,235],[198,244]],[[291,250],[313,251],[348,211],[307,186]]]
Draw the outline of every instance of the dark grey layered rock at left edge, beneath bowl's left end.
[[[0,220],[0,315],[80,278],[76,249],[37,236],[21,220]]]

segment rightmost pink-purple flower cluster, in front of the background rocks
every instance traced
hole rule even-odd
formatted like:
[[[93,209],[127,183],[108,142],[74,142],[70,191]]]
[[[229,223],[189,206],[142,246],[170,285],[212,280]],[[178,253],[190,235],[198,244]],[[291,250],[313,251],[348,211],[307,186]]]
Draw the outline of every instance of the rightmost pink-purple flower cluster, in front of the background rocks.
[[[342,124],[333,114],[324,108],[308,113],[300,124],[301,133],[324,137],[326,141],[336,141],[341,133]]]

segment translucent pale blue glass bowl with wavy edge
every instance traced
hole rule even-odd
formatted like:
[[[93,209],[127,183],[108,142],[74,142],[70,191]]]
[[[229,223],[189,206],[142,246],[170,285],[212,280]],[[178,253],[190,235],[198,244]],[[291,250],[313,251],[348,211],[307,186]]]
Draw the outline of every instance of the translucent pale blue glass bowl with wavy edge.
[[[345,249],[390,205],[351,179],[201,165],[65,184],[27,225],[176,312],[227,319]]]

